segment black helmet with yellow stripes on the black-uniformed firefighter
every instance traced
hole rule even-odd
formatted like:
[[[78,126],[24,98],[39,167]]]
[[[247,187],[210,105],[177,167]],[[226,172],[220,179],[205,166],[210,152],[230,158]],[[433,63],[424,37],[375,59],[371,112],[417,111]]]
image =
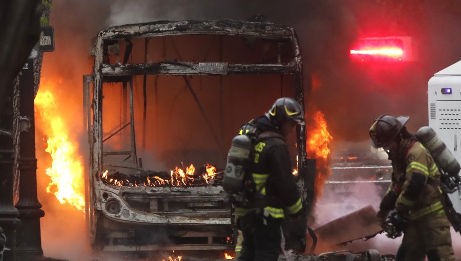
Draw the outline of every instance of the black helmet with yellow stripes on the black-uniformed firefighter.
[[[296,121],[304,125],[303,108],[297,101],[288,97],[277,99],[266,113],[266,117],[276,126],[280,126],[286,120]]]

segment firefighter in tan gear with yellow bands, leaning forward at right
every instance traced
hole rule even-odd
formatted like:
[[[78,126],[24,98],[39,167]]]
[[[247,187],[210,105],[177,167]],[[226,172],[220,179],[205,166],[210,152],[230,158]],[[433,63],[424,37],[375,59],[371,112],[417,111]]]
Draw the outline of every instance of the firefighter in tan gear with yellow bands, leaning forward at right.
[[[384,224],[389,211],[406,223],[398,261],[455,260],[450,222],[441,203],[441,174],[429,151],[408,132],[408,116],[382,115],[374,120],[371,145],[383,148],[392,164],[392,182],[376,214]]]

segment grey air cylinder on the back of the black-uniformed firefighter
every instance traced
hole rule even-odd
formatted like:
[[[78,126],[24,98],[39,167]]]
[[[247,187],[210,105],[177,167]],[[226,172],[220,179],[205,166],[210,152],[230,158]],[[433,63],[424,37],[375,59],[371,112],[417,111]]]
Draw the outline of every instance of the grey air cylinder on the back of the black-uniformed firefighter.
[[[251,149],[252,140],[248,136],[237,135],[232,139],[222,181],[222,187],[227,193],[236,194],[243,191]]]

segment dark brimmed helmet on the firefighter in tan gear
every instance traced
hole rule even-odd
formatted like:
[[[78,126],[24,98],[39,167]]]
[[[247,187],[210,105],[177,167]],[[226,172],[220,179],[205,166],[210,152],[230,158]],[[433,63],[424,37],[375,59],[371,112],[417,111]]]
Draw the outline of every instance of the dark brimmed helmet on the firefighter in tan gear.
[[[399,135],[408,116],[393,117],[390,115],[381,115],[373,121],[370,127],[371,145],[375,148],[381,148],[388,145],[397,135]]]

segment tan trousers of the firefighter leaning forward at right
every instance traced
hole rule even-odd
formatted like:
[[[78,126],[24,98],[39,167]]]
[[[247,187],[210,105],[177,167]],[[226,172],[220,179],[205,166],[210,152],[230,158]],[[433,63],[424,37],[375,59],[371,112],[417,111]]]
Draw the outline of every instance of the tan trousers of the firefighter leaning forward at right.
[[[450,226],[445,213],[409,222],[404,230],[397,261],[455,261]]]

